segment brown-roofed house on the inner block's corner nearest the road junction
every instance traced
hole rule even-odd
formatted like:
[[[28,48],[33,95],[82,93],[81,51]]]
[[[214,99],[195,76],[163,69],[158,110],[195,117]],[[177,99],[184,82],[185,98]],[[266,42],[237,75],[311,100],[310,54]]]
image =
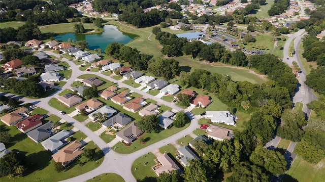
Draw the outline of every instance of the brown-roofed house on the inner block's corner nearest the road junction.
[[[135,141],[138,136],[140,136],[142,133],[144,133],[143,130],[141,130],[136,122],[133,122],[120,130],[116,133],[116,138],[119,139],[121,142],[124,142],[126,144],[131,144],[133,141]]]

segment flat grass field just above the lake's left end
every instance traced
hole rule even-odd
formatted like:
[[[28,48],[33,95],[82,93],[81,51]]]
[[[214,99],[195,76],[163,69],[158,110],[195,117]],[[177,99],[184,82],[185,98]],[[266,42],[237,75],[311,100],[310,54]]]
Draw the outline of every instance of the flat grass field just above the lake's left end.
[[[53,24],[53,25],[44,25],[44,26],[40,26],[40,30],[42,33],[74,33],[74,25],[77,23],[58,23],[58,24]],[[100,31],[98,31],[98,27],[95,26],[92,23],[82,23],[85,31],[89,32],[92,30],[95,30],[95,32],[93,32],[93,34],[96,33],[100,33]]]

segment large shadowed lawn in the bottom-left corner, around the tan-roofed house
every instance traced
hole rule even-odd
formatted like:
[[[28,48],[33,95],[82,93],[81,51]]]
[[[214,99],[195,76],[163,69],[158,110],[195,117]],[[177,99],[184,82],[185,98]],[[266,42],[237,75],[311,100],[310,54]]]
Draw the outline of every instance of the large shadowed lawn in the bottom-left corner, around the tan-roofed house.
[[[25,154],[27,158],[27,170],[23,177],[9,179],[7,176],[1,177],[1,181],[60,181],[68,179],[92,169],[95,169],[103,162],[103,152],[94,145],[93,142],[89,142],[86,148],[95,150],[95,161],[89,161],[83,166],[79,166],[79,160],[84,160],[82,157],[72,162],[66,170],[58,173],[54,169],[54,163],[52,160],[52,153],[45,151],[42,144],[36,144],[29,139],[26,134],[21,133],[15,126],[8,127],[1,123],[1,130],[8,130],[13,136],[11,142],[6,144],[9,150],[20,152]]]

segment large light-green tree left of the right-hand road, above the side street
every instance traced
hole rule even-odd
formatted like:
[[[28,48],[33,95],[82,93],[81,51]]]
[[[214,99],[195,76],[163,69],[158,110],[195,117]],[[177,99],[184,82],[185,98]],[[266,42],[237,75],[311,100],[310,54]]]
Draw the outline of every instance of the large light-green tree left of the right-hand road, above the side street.
[[[281,136],[283,139],[299,142],[304,134],[302,127],[307,124],[305,118],[305,114],[301,110],[285,110],[281,117],[282,124],[278,128],[277,135]]]

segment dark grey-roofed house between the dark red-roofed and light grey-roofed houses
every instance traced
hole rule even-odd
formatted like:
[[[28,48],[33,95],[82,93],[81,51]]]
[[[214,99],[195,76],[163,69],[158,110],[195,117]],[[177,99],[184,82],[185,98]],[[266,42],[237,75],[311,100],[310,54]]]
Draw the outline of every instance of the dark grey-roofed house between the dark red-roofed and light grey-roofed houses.
[[[52,134],[52,131],[51,131],[52,124],[53,124],[53,121],[47,122],[47,123],[41,125],[40,127],[27,132],[26,134],[31,140],[33,140],[34,142],[36,142],[38,144],[39,142],[42,142],[45,139],[50,137],[50,135]]]

